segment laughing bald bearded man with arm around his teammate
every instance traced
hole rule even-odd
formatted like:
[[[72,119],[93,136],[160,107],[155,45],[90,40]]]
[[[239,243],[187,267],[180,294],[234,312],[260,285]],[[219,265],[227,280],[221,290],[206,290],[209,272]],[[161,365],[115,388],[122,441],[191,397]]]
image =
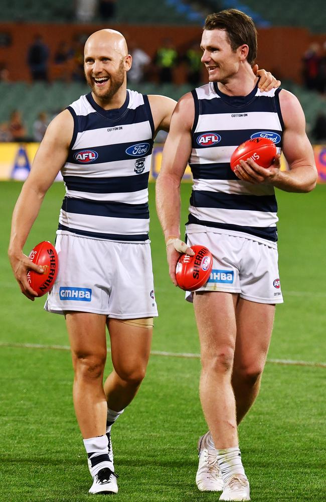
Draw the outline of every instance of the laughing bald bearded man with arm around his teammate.
[[[176,102],[127,89],[131,56],[117,31],[91,35],[84,57],[91,92],[50,123],[14,210],[9,256],[21,291],[34,301],[26,274],[42,270],[22,249],[61,170],[60,267],[45,310],[66,319],[89,492],[116,493],[110,430],[144,378],[157,316],[147,202],[153,138],[169,129]],[[113,370],[103,386],[106,327]]]

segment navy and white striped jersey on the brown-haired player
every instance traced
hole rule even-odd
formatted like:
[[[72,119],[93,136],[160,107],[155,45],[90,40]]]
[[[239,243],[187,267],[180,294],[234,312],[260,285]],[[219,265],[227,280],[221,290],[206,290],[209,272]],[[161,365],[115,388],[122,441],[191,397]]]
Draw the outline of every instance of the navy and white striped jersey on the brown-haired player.
[[[276,247],[277,203],[272,185],[252,185],[231,171],[234,150],[250,138],[270,138],[281,151],[280,89],[247,96],[223,94],[216,82],[195,89],[189,159],[194,184],[187,233],[240,235]]]

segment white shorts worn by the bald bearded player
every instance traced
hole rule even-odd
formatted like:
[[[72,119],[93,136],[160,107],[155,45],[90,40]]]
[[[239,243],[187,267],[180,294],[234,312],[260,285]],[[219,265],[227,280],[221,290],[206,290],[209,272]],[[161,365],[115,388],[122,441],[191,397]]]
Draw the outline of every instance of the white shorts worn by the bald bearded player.
[[[57,235],[59,272],[44,306],[48,312],[156,317],[150,244]]]

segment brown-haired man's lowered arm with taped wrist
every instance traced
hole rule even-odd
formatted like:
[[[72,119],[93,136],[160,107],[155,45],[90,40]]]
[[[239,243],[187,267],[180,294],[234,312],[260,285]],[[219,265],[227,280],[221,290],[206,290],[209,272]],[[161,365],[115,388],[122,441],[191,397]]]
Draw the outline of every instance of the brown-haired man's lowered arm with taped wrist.
[[[156,180],[156,210],[166,241],[180,236],[180,183],[191,153],[191,128],[194,121],[191,93],[178,102],[165,143],[162,167]],[[175,271],[180,254],[168,246],[169,273],[177,285]]]

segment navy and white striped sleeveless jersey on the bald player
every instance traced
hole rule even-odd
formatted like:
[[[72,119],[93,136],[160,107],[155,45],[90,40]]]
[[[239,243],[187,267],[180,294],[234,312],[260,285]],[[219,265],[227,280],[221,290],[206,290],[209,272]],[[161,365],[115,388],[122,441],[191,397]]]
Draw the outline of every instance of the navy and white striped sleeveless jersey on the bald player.
[[[147,241],[154,134],[148,97],[127,90],[121,108],[104,110],[89,93],[68,110],[74,132],[61,170],[66,196],[57,233]]]

